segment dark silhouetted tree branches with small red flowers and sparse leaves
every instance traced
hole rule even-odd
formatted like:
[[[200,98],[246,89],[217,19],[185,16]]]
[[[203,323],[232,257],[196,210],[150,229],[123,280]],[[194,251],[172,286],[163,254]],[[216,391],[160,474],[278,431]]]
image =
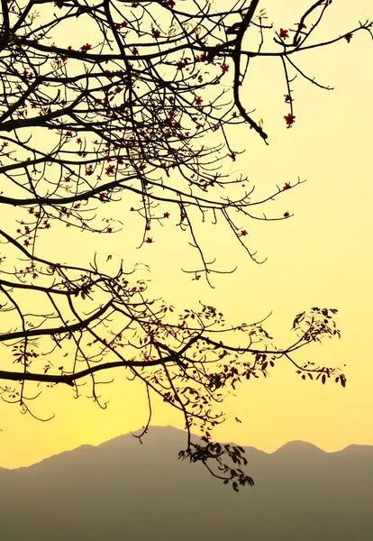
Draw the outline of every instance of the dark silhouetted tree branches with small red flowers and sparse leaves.
[[[263,322],[225,326],[223,315],[205,305],[176,316],[165,301],[147,298],[146,280],[123,263],[110,274],[99,257],[80,267],[40,253],[45,235],[62,226],[114,234],[120,221],[105,212],[110,208],[114,214],[115,203],[122,202],[123,212],[141,216],[143,245],[154,242],[154,223],[178,216],[177,227],[187,232],[200,259],[190,271],[193,280],[205,277],[211,284],[214,272],[225,272],[206,260],[196,231],[200,222],[225,221],[232,238],[257,261],[237,216],[248,224],[287,219],[288,212],[269,217],[258,209],[301,180],[257,200],[247,179],[224,170],[227,161],[236,160],[230,133],[237,124],[248,124],[268,144],[262,121],[242,101],[241,87],[252,59],[277,58],[287,87],[284,126],[292,128],[292,72],[323,87],[298,67],[297,55],[337,41],[350,43],[359,31],[372,35],[366,22],[314,42],[314,29],[329,5],[331,0],[318,0],[293,29],[274,29],[259,0],[224,2],[222,9],[205,0],[2,1],[0,379],[5,401],[34,415],[31,400],[41,384],[64,383],[78,395],[80,382],[88,380],[93,399],[105,408],[97,392],[100,372],[122,367],[148,393],[150,417],[143,434],[150,424],[151,396],[158,394],[184,415],[187,449],[180,457],[201,461],[238,491],[253,484],[241,470],[242,449],[211,440],[212,428],[225,419],[223,412],[213,412],[223,392],[266,376],[282,357],[303,379],[324,383],[333,377],[345,386],[340,369],[295,358],[306,344],[339,335],[335,309],[314,307],[298,314],[296,339],[280,348]],[[248,31],[257,33],[255,48],[246,45]],[[266,49],[268,39],[273,50]],[[7,208],[14,209],[10,219]],[[36,392],[29,394],[35,383]],[[202,445],[191,441],[193,426],[202,432]]]

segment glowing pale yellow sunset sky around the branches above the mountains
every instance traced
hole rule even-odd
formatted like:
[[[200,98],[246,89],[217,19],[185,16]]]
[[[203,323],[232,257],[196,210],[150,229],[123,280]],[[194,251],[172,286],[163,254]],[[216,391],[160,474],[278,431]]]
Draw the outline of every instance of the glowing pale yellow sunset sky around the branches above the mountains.
[[[259,7],[267,8],[268,21],[279,30],[294,27],[310,4],[266,0]],[[373,19],[371,0],[334,0],[317,37],[332,39],[366,19]],[[147,263],[150,297],[162,296],[180,310],[197,308],[201,300],[237,324],[258,321],[272,312],[266,328],[278,345],[291,342],[290,328],[298,312],[314,306],[338,308],[341,340],[305,348],[298,359],[326,366],[347,364],[346,389],[333,382],[323,386],[320,381],[302,381],[284,360],[267,380],[245,382],[234,398],[227,399],[225,409],[232,420],[214,432],[221,441],[267,452],[295,439],[337,451],[350,444],[373,445],[373,42],[368,32],[359,32],[350,44],[343,40],[301,53],[296,60],[311,78],[334,89],[322,90],[298,77],[292,84],[296,123],[287,130],[287,87],[280,61],[252,60],[242,101],[248,110],[256,109],[254,118],[263,119],[269,145],[246,126],[232,135],[235,150],[246,149],[232,171],[247,175],[258,194],[286,182],[294,184],[298,176],[306,179],[268,206],[269,214],[288,211],[294,217],[246,227],[250,248],[268,261],[255,264],[223,226],[206,225],[200,228],[206,251],[218,256],[222,268],[237,264],[238,270],[214,277],[214,289],[203,280],[192,281],[181,271],[188,268],[189,248],[173,227],[172,215],[162,231],[154,230],[155,242],[141,250],[136,249],[141,230],[130,230],[124,219],[123,231],[105,240],[82,234],[74,257],[87,262],[97,251],[104,261],[108,254],[118,254],[129,267]],[[122,217],[120,205],[114,212]],[[68,258],[69,242],[60,237],[50,253],[58,258],[61,250]],[[140,428],[148,415],[145,391],[125,381],[121,371],[111,375],[115,381],[105,389],[110,398],[105,411],[84,397],[73,399],[71,390],[61,386],[46,390],[37,404],[41,415],[55,413],[47,423],[22,416],[16,407],[0,401],[0,466],[29,465]],[[153,425],[183,427],[183,419],[171,408],[157,401],[154,406]]]

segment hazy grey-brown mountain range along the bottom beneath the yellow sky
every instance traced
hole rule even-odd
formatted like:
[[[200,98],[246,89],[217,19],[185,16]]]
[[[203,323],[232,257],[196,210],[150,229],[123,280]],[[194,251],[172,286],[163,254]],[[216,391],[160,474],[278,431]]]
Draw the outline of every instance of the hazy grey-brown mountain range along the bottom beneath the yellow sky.
[[[3,541],[372,541],[373,446],[246,447],[240,493],[177,460],[185,433],[151,426],[0,470]]]

